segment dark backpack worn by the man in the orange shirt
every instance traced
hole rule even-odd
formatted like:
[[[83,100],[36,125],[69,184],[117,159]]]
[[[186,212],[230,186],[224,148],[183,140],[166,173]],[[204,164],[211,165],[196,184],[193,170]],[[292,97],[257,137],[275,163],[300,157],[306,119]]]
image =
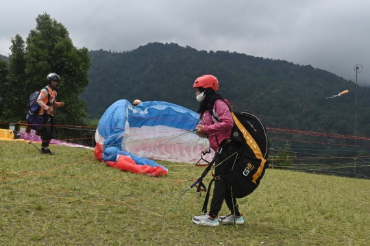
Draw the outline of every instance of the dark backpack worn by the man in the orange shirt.
[[[42,88],[44,89],[44,88]],[[41,90],[42,90],[41,89]],[[45,87],[47,89],[47,87]],[[44,117],[42,115],[38,115],[38,112],[40,111],[40,106],[37,103],[38,95],[40,95],[40,91],[35,91],[31,95],[29,95],[27,99],[27,115],[26,115],[26,121],[29,123],[29,127],[31,127],[34,130],[41,130],[42,124],[44,123]],[[50,101],[50,95],[48,91],[48,103]]]

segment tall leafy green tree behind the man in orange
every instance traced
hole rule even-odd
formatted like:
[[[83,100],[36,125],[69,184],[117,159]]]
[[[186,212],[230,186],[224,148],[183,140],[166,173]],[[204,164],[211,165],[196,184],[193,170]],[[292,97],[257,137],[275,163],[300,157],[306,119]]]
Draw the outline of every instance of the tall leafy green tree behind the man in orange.
[[[88,49],[74,47],[66,28],[47,13],[37,16],[36,28],[29,32],[26,42],[17,35],[10,49],[8,88],[12,89],[13,97],[6,100],[5,116],[24,119],[28,95],[47,85],[49,73],[57,73],[60,76],[57,100],[64,101],[66,106],[58,109],[56,122],[82,124],[87,116],[86,103],[79,100],[79,94],[88,85]]]

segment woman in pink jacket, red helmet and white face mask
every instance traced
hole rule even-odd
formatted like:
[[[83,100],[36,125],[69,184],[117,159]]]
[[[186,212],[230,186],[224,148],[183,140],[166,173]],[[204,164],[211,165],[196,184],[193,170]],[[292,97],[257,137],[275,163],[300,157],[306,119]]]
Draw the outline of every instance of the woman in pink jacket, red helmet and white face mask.
[[[222,99],[217,94],[219,82],[212,75],[203,75],[195,79],[197,100],[200,102],[198,113],[201,124],[197,125],[196,134],[201,138],[208,138],[210,147],[215,151],[214,175],[216,178],[210,212],[193,217],[193,222],[200,225],[217,226],[221,223],[243,224],[244,218],[240,214],[236,199],[232,197],[230,186],[227,186],[226,174],[231,172],[232,165],[238,156],[240,143],[230,140],[234,121],[230,112],[230,101]],[[223,201],[230,209],[231,214],[219,216]]]

